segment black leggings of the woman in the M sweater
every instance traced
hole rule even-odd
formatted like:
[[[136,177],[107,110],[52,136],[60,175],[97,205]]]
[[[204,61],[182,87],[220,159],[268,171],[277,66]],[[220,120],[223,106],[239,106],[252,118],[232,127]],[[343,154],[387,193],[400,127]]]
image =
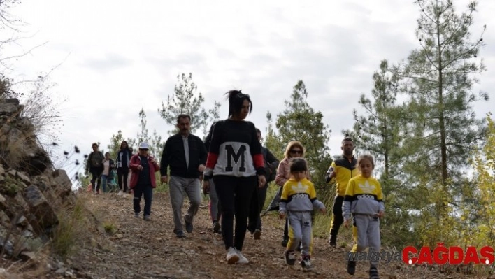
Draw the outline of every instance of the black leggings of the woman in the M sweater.
[[[234,176],[214,176],[215,190],[222,204],[222,236],[225,250],[235,247],[243,250],[252,194],[257,187],[256,176],[238,178]],[[234,215],[236,234],[234,236]]]

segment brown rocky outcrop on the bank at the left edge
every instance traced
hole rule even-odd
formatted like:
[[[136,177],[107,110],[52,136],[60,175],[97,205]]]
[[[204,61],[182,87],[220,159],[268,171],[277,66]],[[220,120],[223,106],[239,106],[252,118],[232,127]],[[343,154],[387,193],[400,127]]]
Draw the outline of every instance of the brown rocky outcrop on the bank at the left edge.
[[[34,126],[21,117],[17,99],[0,99],[0,252],[30,259],[53,236],[57,210],[76,196],[64,170],[52,167],[36,141]]]

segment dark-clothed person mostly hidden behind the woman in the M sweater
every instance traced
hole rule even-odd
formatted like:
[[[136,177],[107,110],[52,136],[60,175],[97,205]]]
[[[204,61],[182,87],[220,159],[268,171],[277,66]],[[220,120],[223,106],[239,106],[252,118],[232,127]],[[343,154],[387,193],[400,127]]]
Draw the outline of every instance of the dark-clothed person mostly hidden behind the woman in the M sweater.
[[[258,137],[258,141],[261,143],[261,131],[259,129],[256,129],[256,134]],[[247,224],[247,229],[251,232],[251,236],[256,240],[261,239],[261,217],[259,214],[261,213],[265,205],[266,189],[268,189],[268,183],[275,180],[275,175],[278,168],[278,159],[273,156],[268,148],[261,146],[261,153],[263,154],[263,161],[266,172],[266,183],[263,187],[256,188],[256,191],[252,196],[249,223]]]

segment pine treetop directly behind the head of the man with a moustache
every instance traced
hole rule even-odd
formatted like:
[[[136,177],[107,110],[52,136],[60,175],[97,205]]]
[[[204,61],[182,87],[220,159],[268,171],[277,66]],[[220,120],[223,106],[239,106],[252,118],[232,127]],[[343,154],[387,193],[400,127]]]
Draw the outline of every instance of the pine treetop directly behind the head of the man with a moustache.
[[[208,134],[210,125],[219,118],[220,103],[215,101],[212,109],[206,110],[202,107],[205,101],[201,92],[196,94],[198,87],[192,81],[192,73],[187,76],[185,73],[177,76],[178,85],[174,87],[174,94],[168,95],[166,105],[162,101],[162,108],[158,109],[159,115],[173,127],[177,124],[177,117],[180,114],[191,116],[191,133],[198,129],[203,130],[203,134]],[[174,134],[176,129],[171,131]]]

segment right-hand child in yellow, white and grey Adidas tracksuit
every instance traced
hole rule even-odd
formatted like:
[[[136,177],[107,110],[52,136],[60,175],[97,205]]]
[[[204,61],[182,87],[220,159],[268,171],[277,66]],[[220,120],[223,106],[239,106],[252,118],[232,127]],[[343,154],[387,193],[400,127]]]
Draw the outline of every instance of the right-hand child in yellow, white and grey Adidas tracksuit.
[[[371,155],[361,155],[357,160],[361,174],[349,180],[345,190],[343,204],[344,226],[347,228],[352,217],[352,236],[354,246],[352,253],[362,252],[369,247],[370,279],[378,278],[378,259],[380,253],[380,219],[385,215],[382,187],[378,180],[371,177],[375,162]],[[352,214],[352,215],[351,215]],[[351,254],[355,255],[355,254]],[[356,271],[356,257],[347,259],[347,273]]]

